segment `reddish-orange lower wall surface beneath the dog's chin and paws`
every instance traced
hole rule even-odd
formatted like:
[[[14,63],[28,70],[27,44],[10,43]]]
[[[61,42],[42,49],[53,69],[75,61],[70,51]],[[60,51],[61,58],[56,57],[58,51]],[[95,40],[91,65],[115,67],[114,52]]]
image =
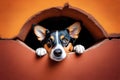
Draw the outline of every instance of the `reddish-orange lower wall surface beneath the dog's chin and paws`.
[[[37,58],[21,42],[0,40],[0,80],[120,80],[120,40],[101,43],[54,62],[48,55]]]

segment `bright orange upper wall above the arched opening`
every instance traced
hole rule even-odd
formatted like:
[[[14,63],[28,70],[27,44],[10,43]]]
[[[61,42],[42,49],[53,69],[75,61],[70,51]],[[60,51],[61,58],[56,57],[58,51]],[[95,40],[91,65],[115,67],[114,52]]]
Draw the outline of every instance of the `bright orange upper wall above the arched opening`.
[[[92,14],[108,34],[120,33],[120,0],[0,0],[0,37],[16,36],[30,16],[66,2]]]

